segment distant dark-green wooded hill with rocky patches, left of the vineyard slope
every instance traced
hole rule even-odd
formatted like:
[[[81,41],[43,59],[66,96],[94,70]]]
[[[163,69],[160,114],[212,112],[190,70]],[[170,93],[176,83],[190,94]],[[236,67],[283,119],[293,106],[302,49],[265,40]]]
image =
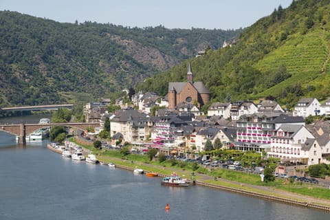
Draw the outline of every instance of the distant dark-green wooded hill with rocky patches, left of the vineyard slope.
[[[58,23],[1,11],[0,107],[107,97],[240,32]]]

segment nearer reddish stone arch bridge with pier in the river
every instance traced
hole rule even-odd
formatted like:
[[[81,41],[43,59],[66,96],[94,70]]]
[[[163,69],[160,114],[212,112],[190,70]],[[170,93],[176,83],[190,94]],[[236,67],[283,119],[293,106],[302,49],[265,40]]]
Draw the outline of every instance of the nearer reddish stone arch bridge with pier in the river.
[[[51,124],[0,124],[0,131],[10,133],[19,137],[19,144],[25,144],[25,137],[34,131],[52,126],[67,126],[85,131],[87,128],[100,126],[98,122],[89,123],[51,123]]]

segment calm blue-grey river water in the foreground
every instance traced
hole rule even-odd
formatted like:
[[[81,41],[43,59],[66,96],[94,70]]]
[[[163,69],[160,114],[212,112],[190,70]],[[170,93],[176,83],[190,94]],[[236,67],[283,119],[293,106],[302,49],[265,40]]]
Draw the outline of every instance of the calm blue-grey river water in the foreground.
[[[172,188],[131,171],[75,162],[48,141],[15,144],[0,132],[0,219],[329,219],[200,186]],[[170,210],[166,212],[166,203]]]

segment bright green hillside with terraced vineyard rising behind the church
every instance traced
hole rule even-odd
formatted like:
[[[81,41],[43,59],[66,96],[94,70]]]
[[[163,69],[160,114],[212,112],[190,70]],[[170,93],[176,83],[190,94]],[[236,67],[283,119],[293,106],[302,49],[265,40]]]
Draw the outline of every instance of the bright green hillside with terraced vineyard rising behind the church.
[[[329,58],[330,1],[298,0],[245,28],[231,47],[190,61],[213,101],[273,96],[291,108],[302,96],[330,96]],[[137,88],[166,94],[168,82],[186,80],[187,67],[188,61]]]

